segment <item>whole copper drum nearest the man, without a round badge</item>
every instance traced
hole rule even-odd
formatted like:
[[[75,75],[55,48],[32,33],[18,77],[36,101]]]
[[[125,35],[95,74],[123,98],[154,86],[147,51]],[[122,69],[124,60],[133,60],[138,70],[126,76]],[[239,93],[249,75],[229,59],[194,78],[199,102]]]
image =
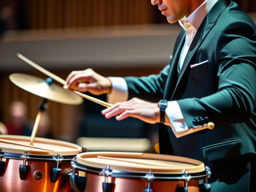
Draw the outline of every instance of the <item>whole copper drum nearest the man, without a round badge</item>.
[[[72,161],[70,183],[76,192],[210,191],[204,163],[177,156],[87,152]],[[199,180],[204,183],[199,185]]]

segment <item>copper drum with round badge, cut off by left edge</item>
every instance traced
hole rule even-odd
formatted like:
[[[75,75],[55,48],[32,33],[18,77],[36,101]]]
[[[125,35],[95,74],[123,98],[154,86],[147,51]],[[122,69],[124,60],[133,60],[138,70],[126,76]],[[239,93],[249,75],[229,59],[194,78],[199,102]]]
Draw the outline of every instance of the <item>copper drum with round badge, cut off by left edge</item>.
[[[29,145],[30,137],[0,135],[1,139]],[[72,143],[35,138],[34,146],[52,151],[0,143],[1,192],[69,192],[71,160],[83,149]]]

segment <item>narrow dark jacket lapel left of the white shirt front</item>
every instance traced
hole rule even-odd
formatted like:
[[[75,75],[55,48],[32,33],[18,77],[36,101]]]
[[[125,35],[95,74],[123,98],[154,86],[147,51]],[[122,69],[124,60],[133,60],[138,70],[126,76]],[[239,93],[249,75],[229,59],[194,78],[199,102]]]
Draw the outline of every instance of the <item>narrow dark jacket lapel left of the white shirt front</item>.
[[[185,36],[186,36],[186,33],[182,35],[180,43],[173,56],[173,60],[170,63],[170,71],[166,80],[167,83],[165,85],[165,91],[164,91],[164,99],[166,100],[170,100],[170,96],[171,96],[170,93],[173,93],[173,90],[175,88],[175,82],[177,82],[177,75],[178,75],[177,66],[179,63],[180,53],[185,43]]]

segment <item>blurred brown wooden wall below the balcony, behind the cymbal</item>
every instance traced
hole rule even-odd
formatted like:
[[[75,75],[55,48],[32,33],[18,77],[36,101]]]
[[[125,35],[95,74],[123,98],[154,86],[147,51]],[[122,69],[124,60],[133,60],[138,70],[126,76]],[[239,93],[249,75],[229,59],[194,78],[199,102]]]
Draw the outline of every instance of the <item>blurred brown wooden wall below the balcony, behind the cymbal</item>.
[[[136,70],[131,68],[115,68],[99,69],[96,71],[102,74],[103,76],[124,77],[130,75],[143,76],[155,74],[159,73],[161,69],[162,67],[136,68]],[[16,73],[19,71],[13,72]],[[66,79],[71,70],[55,70],[52,72],[58,75],[59,77]],[[37,115],[37,103],[41,101],[41,98],[15,86],[8,78],[10,73],[12,72],[0,72],[0,110],[3,110],[4,122],[8,122],[10,120],[9,107],[10,104],[15,100],[23,101],[28,106],[28,117],[34,121]],[[43,79],[47,78],[44,74],[42,74],[39,71],[30,71],[25,73],[32,74]],[[61,135],[70,135],[73,138],[76,137],[76,123],[78,122],[79,114],[81,113],[81,106],[64,105],[49,101],[48,109],[46,112],[51,120],[51,132],[56,139],[58,139]]]

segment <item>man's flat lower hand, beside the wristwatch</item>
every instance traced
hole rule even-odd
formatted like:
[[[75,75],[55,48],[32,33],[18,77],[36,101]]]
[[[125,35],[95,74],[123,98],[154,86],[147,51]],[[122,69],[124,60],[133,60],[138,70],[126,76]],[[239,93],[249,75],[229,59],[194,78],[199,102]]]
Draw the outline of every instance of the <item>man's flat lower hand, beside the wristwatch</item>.
[[[120,102],[101,112],[107,119],[116,116],[116,120],[121,121],[127,117],[140,119],[146,123],[159,123],[160,111],[157,103],[143,101],[133,98],[129,101]]]

